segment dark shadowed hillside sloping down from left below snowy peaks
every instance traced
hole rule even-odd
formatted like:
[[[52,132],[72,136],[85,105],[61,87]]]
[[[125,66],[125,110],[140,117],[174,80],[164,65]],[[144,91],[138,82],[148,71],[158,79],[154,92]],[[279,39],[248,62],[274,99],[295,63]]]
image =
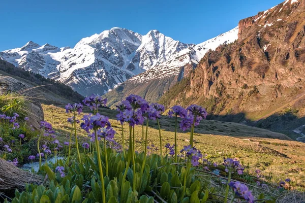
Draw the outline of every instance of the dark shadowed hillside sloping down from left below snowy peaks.
[[[83,99],[82,95],[73,91],[71,87],[66,86],[63,83],[19,69],[11,63],[1,59],[0,75],[13,77],[29,87],[35,88],[33,91],[36,92],[36,97],[40,98],[39,100],[44,104],[58,105],[71,102],[78,103]]]

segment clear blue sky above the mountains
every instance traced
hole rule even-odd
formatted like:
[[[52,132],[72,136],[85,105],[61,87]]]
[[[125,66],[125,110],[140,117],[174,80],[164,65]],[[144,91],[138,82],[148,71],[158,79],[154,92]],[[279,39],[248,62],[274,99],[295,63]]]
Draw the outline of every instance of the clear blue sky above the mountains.
[[[111,27],[146,34],[158,29],[185,43],[201,43],[284,0],[15,0],[0,7],[0,51],[32,40],[74,45]]]

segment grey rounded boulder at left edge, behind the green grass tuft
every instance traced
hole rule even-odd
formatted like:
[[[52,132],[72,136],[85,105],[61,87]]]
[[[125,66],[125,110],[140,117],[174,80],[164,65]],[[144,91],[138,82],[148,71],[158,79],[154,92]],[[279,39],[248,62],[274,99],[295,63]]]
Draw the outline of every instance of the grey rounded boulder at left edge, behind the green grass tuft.
[[[27,116],[29,118],[27,123],[38,129],[40,121],[44,120],[44,114],[40,101],[36,99],[39,95],[35,92],[35,88],[30,88],[22,81],[0,74],[0,94],[6,92],[18,92],[31,100],[27,105]]]

